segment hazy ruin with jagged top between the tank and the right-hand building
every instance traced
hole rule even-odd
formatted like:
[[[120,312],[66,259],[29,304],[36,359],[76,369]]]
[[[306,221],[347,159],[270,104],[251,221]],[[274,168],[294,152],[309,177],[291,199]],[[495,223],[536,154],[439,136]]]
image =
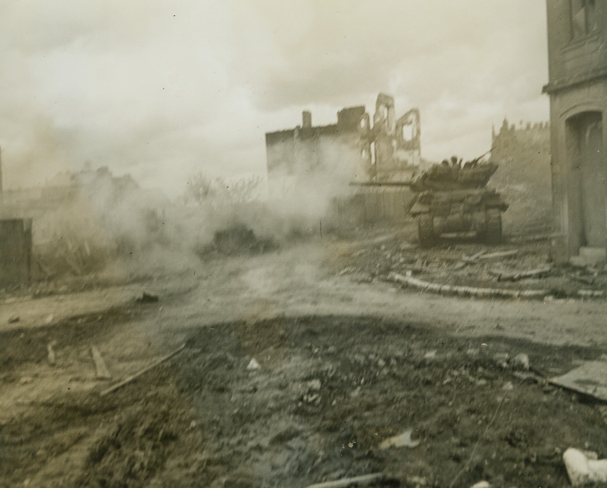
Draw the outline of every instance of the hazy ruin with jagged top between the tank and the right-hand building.
[[[552,186],[550,126],[548,122],[504,119],[498,132],[492,130],[491,160],[499,168],[489,183],[510,207],[504,214],[504,229],[510,235],[550,233]]]

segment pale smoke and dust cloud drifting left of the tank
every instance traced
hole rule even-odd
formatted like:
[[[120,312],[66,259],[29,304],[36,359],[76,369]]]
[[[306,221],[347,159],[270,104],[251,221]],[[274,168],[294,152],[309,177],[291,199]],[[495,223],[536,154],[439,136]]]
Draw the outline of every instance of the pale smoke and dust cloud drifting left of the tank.
[[[43,187],[25,205],[41,210],[33,223],[35,273],[133,280],[185,272],[214,253],[260,252],[334,229],[333,203],[347,194],[347,180],[328,169],[292,182],[282,198],[269,199],[260,177],[198,173],[169,199],[107,168],[61,173],[52,180],[58,186]]]

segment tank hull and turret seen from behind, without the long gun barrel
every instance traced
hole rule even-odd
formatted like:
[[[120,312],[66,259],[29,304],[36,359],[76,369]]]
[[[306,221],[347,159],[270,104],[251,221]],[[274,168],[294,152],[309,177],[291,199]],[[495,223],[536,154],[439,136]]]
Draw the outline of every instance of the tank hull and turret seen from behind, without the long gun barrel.
[[[418,195],[410,213],[418,222],[419,244],[427,247],[444,233],[475,232],[487,244],[502,240],[501,214],[508,204],[486,188],[498,165],[473,160],[461,165],[455,157],[434,165],[415,179]]]

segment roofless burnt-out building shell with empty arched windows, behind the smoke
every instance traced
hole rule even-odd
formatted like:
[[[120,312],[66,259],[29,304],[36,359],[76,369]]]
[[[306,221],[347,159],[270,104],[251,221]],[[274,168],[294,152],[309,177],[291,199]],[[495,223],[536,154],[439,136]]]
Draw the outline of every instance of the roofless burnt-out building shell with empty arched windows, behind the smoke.
[[[419,111],[396,119],[390,95],[379,94],[373,125],[364,106],[341,109],[337,123],[325,126],[313,126],[306,111],[302,125],[266,134],[270,198],[317,174],[345,184],[409,180],[421,162],[419,140]]]

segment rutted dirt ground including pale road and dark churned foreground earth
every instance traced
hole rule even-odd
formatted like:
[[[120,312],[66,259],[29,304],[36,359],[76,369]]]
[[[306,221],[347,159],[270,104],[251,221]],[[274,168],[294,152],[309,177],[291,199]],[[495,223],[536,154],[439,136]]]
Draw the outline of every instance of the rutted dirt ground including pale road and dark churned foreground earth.
[[[607,352],[605,301],[439,297],[340,275],[378,239],[4,297],[0,486],[304,487],[371,472],[392,486],[567,486],[565,448],[607,456],[600,405],[541,377]],[[136,303],[143,290],[160,301]],[[111,380],[95,377],[92,345]],[[538,374],[504,365],[519,352]],[[407,429],[417,447],[379,448]]]

